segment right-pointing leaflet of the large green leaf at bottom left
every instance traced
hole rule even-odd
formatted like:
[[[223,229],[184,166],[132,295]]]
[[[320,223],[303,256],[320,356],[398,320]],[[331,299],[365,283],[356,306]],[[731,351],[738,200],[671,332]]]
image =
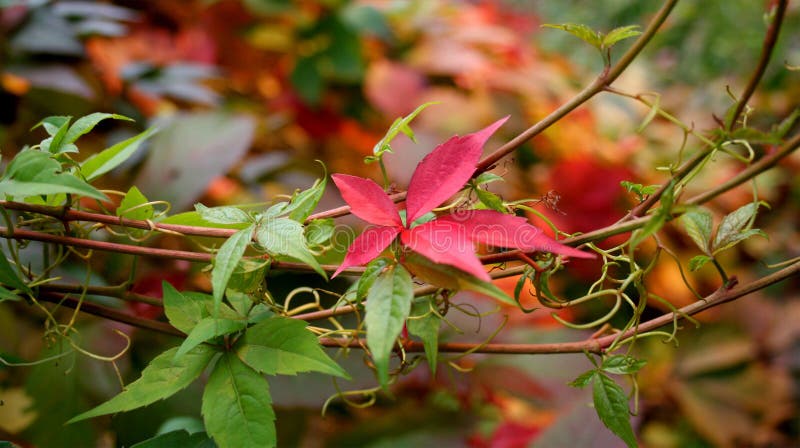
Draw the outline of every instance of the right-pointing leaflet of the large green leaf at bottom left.
[[[350,379],[322,350],[308,323],[275,316],[247,329],[236,344],[236,354],[245,364],[267,375],[322,372]]]

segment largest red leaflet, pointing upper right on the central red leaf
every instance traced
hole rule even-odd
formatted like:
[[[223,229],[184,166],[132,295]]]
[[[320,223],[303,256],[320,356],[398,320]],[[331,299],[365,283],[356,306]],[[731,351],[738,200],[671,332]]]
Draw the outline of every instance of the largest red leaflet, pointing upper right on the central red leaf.
[[[414,222],[464,186],[475,172],[486,140],[507,119],[464,137],[452,137],[422,159],[408,185],[406,222]]]

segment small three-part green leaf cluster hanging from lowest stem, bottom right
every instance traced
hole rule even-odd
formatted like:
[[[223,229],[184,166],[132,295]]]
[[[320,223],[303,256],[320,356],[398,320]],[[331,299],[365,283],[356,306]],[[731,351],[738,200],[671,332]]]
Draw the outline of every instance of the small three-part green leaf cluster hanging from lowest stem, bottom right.
[[[578,376],[570,386],[584,388],[591,383],[594,408],[603,424],[628,447],[639,446],[631,427],[628,396],[608,374],[633,377],[647,362],[628,355],[608,356],[599,364],[589,359],[595,368]]]

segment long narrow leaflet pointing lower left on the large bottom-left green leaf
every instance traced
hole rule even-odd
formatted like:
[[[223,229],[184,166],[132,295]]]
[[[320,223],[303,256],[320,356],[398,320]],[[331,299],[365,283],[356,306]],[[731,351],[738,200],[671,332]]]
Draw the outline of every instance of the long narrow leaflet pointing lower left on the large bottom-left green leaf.
[[[73,417],[67,423],[130,411],[170,397],[200,376],[217,353],[212,347],[201,345],[176,360],[177,351],[178,347],[173,347],[156,356],[142,371],[142,376],[125,387],[119,395]]]

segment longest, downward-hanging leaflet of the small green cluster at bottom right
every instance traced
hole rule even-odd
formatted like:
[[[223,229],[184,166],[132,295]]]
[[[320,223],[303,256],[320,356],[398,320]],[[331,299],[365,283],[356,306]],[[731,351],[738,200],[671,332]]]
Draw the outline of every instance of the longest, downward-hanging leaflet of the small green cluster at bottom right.
[[[617,435],[628,447],[636,448],[636,436],[630,422],[628,397],[613,379],[596,373],[593,379],[592,396],[594,408],[600,421]]]

